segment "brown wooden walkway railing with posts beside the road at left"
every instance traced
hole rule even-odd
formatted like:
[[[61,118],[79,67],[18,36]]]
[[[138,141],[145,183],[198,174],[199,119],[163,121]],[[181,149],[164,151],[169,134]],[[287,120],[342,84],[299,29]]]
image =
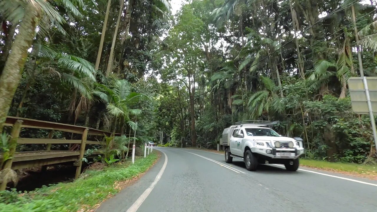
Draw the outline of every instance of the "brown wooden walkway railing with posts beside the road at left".
[[[82,159],[84,157],[86,144],[106,145],[106,143],[103,142],[104,139],[102,142],[87,140],[88,135],[106,135],[108,137],[112,135],[111,132],[87,128],[84,126],[10,116],[7,117],[4,125],[12,126],[12,132],[11,140],[9,143],[9,156],[11,158],[5,161],[5,163],[3,164],[3,169],[19,169],[35,166],[42,166],[42,169],[46,169],[47,165],[50,164],[74,161],[74,165],[77,166],[75,178],[78,178],[80,176]],[[21,128],[47,129],[50,130],[50,132],[48,138],[18,138]],[[81,134],[81,140],[53,139],[54,131]],[[46,144],[46,150],[33,152],[15,152],[17,144]],[[80,144],[80,151],[51,151],[51,144]],[[0,160],[3,160],[1,154]],[[4,179],[4,182],[5,181],[6,180]],[[4,182],[1,184],[0,190],[4,190],[6,188],[6,183]]]

